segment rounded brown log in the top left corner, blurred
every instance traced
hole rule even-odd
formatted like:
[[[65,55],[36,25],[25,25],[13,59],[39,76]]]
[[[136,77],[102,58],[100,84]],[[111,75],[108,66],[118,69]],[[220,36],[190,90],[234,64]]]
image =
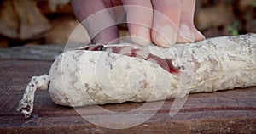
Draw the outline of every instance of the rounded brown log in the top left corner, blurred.
[[[26,40],[42,36],[50,24],[33,0],[1,2],[0,33],[10,38]]]

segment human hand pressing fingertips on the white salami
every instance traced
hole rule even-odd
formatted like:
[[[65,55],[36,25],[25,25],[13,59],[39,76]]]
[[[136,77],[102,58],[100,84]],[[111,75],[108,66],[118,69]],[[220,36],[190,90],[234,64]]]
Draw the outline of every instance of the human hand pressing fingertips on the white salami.
[[[71,2],[75,16],[85,26],[92,43],[119,43],[119,23],[127,23],[131,41],[143,46],[153,42],[160,47],[172,47],[176,43],[205,39],[194,25],[195,0]],[[116,8],[118,6],[124,10]]]

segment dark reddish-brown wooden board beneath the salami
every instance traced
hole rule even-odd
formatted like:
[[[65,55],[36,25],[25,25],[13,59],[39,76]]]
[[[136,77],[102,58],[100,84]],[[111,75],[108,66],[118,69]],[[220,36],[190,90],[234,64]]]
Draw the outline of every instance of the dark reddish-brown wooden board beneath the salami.
[[[169,116],[173,99],[166,100],[149,120],[121,130],[96,126],[84,120],[75,109],[53,103],[47,90],[38,90],[32,118],[25,120],[15,111],[24,89],[32,76],[47,74],[51,63],[38,59],[0,59],[0,133],[256,133],[256,87],[190,94],[183,109],[175,116]],[[101,107],[124,112],[142,104],[119,103]],[[109,123],[104,118],[108,114],[95,108],[84,107],[90,109],[84,114],[100,116],[103,122]],[[144,110],[132,114],[137,114],[139,119],[152,112]]]

